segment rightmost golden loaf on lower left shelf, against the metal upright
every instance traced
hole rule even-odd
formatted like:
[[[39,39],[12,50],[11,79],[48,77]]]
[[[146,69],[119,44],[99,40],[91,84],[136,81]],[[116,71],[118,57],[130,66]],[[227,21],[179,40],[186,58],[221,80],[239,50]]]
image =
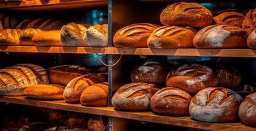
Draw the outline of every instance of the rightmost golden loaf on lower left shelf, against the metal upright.
[[[80,103],[86,106],[108,105],[108,83],[99,83],[88,86],[80,96]]]

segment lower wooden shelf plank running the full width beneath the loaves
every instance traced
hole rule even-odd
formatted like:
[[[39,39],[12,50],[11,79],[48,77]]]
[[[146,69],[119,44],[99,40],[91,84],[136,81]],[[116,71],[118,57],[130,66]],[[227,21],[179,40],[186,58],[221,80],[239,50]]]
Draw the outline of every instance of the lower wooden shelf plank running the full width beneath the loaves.
[[[65,111],[75,111],[79,113],[90,113],[95,115],[105,115],[123,119],[133,119],[137,121],[157,122],[162,124],[172,124],[175,126],[185,126],[191,128],[200,128],[207,130],[256,130],[249,126],[245,126],[240,122],[233,123],[210,123],[194,121],[191,117],[167,117],[156,115],[150,111],[143,112],[127,112],[115,111],[113,107],[84,107],[79,103],[65,103],[63,100],[58,101],[42,101],[28,100],[24,96],[0,96],[0,102],[17,103],[21,105],[31,105],[36,107],[46,107],[51,109],[61,109]]]

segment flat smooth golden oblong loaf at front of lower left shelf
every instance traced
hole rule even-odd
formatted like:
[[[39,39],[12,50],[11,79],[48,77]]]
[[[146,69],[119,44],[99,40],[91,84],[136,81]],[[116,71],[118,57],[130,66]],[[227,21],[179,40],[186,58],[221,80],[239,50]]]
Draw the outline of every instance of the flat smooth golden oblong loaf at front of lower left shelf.
[[[63,99],[65,86],[60,84],[34,84],[24,89],[24,95],[36,99]]]

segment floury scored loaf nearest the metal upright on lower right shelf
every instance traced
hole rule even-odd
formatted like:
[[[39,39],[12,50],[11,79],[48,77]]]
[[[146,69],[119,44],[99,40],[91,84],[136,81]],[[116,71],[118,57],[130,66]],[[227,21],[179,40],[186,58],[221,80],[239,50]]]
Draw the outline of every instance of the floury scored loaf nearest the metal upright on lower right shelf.
[[[150,98],[159,89],[154,84],[130,83],[121,86],[113,95],[115,109],[125,111],[143,111],[150,109]]]

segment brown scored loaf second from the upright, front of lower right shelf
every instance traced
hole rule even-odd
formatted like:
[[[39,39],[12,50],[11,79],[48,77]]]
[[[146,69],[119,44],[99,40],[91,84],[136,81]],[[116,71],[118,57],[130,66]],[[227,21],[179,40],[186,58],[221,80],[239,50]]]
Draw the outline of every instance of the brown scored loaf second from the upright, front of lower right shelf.
[[[174,116],[189,115],[191,95],[180,88],[166,87],[158,90],[150,101],[151,109],[156,113]]]

